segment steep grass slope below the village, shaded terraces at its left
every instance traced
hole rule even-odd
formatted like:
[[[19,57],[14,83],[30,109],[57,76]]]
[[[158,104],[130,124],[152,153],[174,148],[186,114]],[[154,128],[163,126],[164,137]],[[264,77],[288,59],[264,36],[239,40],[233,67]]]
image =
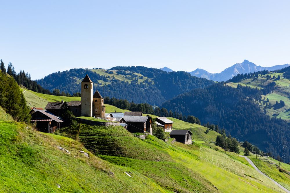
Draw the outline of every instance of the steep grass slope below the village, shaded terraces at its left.
[[[169,191],[200,192],[202,187],[207,187],[210,192],[217,189],[221,192],[282,192],[245,159],[235,153],[225,154],[217,147],[178,142],[169,143],[167,147],[167,143],[154,136],[142,140],[122,127],[83,124],[79,138],[99,157],[137,170]]]

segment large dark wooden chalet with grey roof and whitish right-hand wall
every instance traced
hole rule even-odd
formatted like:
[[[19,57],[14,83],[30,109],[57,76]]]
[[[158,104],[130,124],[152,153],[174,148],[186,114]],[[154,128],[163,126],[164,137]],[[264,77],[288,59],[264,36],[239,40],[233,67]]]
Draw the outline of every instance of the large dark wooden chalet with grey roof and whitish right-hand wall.
[[[119,121],[128,124],[127,130],[131,133],[149,132],[152,135],[152,119],[141,116],[124,116]]]

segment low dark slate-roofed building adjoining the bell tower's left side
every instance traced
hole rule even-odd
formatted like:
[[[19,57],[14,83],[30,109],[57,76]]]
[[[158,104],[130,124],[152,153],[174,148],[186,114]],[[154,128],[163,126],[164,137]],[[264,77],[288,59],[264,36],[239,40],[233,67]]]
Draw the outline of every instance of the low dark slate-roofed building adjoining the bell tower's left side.
[[[48,102],[45,109],[57,116],[60,116],[62,113],[61,105],[68,104],[68,110],[70,110],[76,117],[81,116],[81,101],[70,101],[64,102]]]

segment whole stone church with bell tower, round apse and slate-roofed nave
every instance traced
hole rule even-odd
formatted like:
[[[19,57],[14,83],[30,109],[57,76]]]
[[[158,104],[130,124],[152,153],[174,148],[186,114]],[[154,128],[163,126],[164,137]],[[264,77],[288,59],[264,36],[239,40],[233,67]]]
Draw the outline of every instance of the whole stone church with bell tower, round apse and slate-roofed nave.
[[[105,118],[106,107],[104,99],[99,91],[93,94],[93,82],[88,75],[81,81],[81,101],[48,102],[45,109],[60,116],[63,103],[68,104],[68,109],[76,116]]]

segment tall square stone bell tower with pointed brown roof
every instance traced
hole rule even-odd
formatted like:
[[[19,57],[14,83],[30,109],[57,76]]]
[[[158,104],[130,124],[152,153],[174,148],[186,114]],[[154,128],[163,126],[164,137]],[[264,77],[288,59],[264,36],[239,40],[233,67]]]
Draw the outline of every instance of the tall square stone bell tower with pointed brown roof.
[[[81,116],[93,115],[93,82],[88,75],[81,81]]]

